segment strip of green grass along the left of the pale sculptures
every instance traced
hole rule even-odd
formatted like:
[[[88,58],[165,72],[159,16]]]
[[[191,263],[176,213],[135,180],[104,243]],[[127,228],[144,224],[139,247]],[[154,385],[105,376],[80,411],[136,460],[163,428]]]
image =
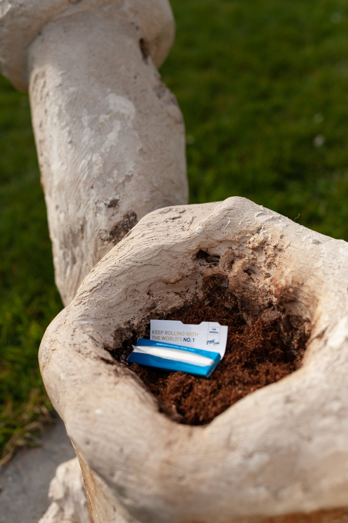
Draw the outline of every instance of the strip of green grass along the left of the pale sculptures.
[[[32,444],[48,418],[37,355],[62,308],[28,97],[0,78],[0,459]]]

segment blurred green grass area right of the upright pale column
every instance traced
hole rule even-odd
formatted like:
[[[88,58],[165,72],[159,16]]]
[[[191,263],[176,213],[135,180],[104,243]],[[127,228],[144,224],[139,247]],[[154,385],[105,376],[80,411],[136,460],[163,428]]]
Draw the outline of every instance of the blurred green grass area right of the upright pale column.
[[[162,74],[185,118],[191,202],[245,196],[348,239],[347,4],[172,7],[177,38]]]

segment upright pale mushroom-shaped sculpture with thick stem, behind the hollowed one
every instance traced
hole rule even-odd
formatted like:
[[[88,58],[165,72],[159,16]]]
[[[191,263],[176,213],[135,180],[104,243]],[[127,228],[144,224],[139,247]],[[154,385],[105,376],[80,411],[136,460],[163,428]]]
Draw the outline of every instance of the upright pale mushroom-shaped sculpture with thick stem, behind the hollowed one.
[[[167,0],[1,0],[0,71],[29,85],[64,304],[147,212],[187,202],[184,125],[156,67]]]

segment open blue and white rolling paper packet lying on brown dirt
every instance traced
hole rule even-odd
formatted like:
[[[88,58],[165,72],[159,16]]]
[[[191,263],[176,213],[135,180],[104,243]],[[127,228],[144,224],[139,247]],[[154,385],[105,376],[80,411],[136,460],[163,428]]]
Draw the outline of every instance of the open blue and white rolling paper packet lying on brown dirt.
[[[140,338],[127,361],[208,378],[224,357],[226,343],[227,327],[217,322],[151,320],[150,339]]]

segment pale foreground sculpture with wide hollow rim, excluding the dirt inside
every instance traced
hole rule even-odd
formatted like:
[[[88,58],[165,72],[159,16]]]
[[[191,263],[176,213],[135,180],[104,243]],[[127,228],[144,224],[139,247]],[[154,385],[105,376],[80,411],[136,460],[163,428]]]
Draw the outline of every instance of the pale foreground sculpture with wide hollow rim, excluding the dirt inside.
[[[202,266],[200,249],[219,264]],[[214,275],[261,310],[271,300],[300,316],[311,336],[300,370],[210,424],[180,425],[109,350],[142,335],[154,314],[202,297]],[[346,521],[347,275],[347,243],[242,198],[146,215],[90,272],[40,347],[91,520]]]

